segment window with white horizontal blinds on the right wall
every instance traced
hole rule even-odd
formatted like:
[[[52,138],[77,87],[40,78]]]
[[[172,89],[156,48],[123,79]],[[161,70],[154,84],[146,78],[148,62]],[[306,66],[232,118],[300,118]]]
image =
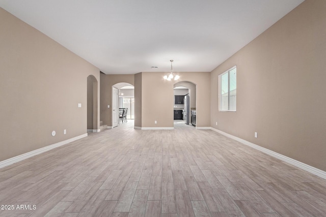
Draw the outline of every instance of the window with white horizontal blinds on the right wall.
[[[219,75],[219,111],[236,111],[236,66]]]

